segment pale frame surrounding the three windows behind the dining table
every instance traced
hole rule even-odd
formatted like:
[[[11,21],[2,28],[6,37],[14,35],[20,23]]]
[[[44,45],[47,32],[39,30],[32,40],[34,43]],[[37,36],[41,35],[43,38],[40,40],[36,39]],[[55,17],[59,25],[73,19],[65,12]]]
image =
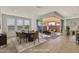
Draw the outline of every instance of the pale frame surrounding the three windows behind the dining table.
[[[22,25],[23,29],[25,29],[25,28],[24,28],[24,20],[29,20],[29,22],[30,22],[29,27],[31,27],[31,18],[25,18],[25,17],[14,16],[14,15],[8,15],[8,14],[2,14],[2,17],[3,17],[3,23],[4,23],[4,20],[6,20],[6,22],[5,22],[6,25],[7,25],[7,18],[8,18],[8,17],[12,17],[12,18],[15,19],[15,29],[9,30],[9,29],[8,29],[8,25],[7,25],[7,26],[4,25],[4,26],[6,26],[7,32],[10,32],[10,31],[12,32],[12,31],[17,31],[17,30],[18,30],[18,28],[17,28],[17,19],[23,19],[23,25]]]

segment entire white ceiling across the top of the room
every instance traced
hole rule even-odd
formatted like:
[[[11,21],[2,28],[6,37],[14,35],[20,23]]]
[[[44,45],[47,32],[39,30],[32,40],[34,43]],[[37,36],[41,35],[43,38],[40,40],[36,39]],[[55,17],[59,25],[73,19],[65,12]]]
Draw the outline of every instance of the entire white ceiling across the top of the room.
[[[0,6],[5,14],[33,17],[57,11],[64,17],[79,17],[78,6]]]

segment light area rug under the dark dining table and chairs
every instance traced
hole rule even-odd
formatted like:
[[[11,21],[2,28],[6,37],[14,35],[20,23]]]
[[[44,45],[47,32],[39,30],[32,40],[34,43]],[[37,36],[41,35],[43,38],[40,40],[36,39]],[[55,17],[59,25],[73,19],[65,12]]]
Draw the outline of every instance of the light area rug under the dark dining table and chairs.
[[[15,47],[16,47],[18,52],[22,52],[22,51],[27,50],[29,48],[35,47],[35,46],[37,46],[39,44],[42,44],[42,43],[44,43],[46,41],[47,40],[45,40],[45,39],[39,39],[39,42],[38,42],[38,39],[37,39],[35,41],[35,44],[34,44],[34,42],[18,44],[17,42],[15,42],[15,40],[13,40],[13,42],[15,44]]]

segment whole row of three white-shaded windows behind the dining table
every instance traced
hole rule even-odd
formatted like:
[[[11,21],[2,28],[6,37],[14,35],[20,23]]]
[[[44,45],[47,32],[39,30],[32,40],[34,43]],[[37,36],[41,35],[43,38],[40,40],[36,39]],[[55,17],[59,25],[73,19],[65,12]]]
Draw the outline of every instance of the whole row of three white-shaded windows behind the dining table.
[[[12,15],[3,15],[4,28],[8,31],[24,30],[31,26],[31,20],[23,17],[17,17]],[[6,20],[6,21],[5,21]]]

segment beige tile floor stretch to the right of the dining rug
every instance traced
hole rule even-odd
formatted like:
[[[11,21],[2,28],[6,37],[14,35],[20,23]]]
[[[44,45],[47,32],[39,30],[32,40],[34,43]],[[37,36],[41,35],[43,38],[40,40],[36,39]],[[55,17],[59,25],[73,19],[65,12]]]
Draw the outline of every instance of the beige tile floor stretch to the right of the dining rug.
[[[56,39],[48,39],[47,42],[24,52],[44,52],[44,53],[74,53],[79,52],[79,45],[76,44],[75,37],[60,36]]]

